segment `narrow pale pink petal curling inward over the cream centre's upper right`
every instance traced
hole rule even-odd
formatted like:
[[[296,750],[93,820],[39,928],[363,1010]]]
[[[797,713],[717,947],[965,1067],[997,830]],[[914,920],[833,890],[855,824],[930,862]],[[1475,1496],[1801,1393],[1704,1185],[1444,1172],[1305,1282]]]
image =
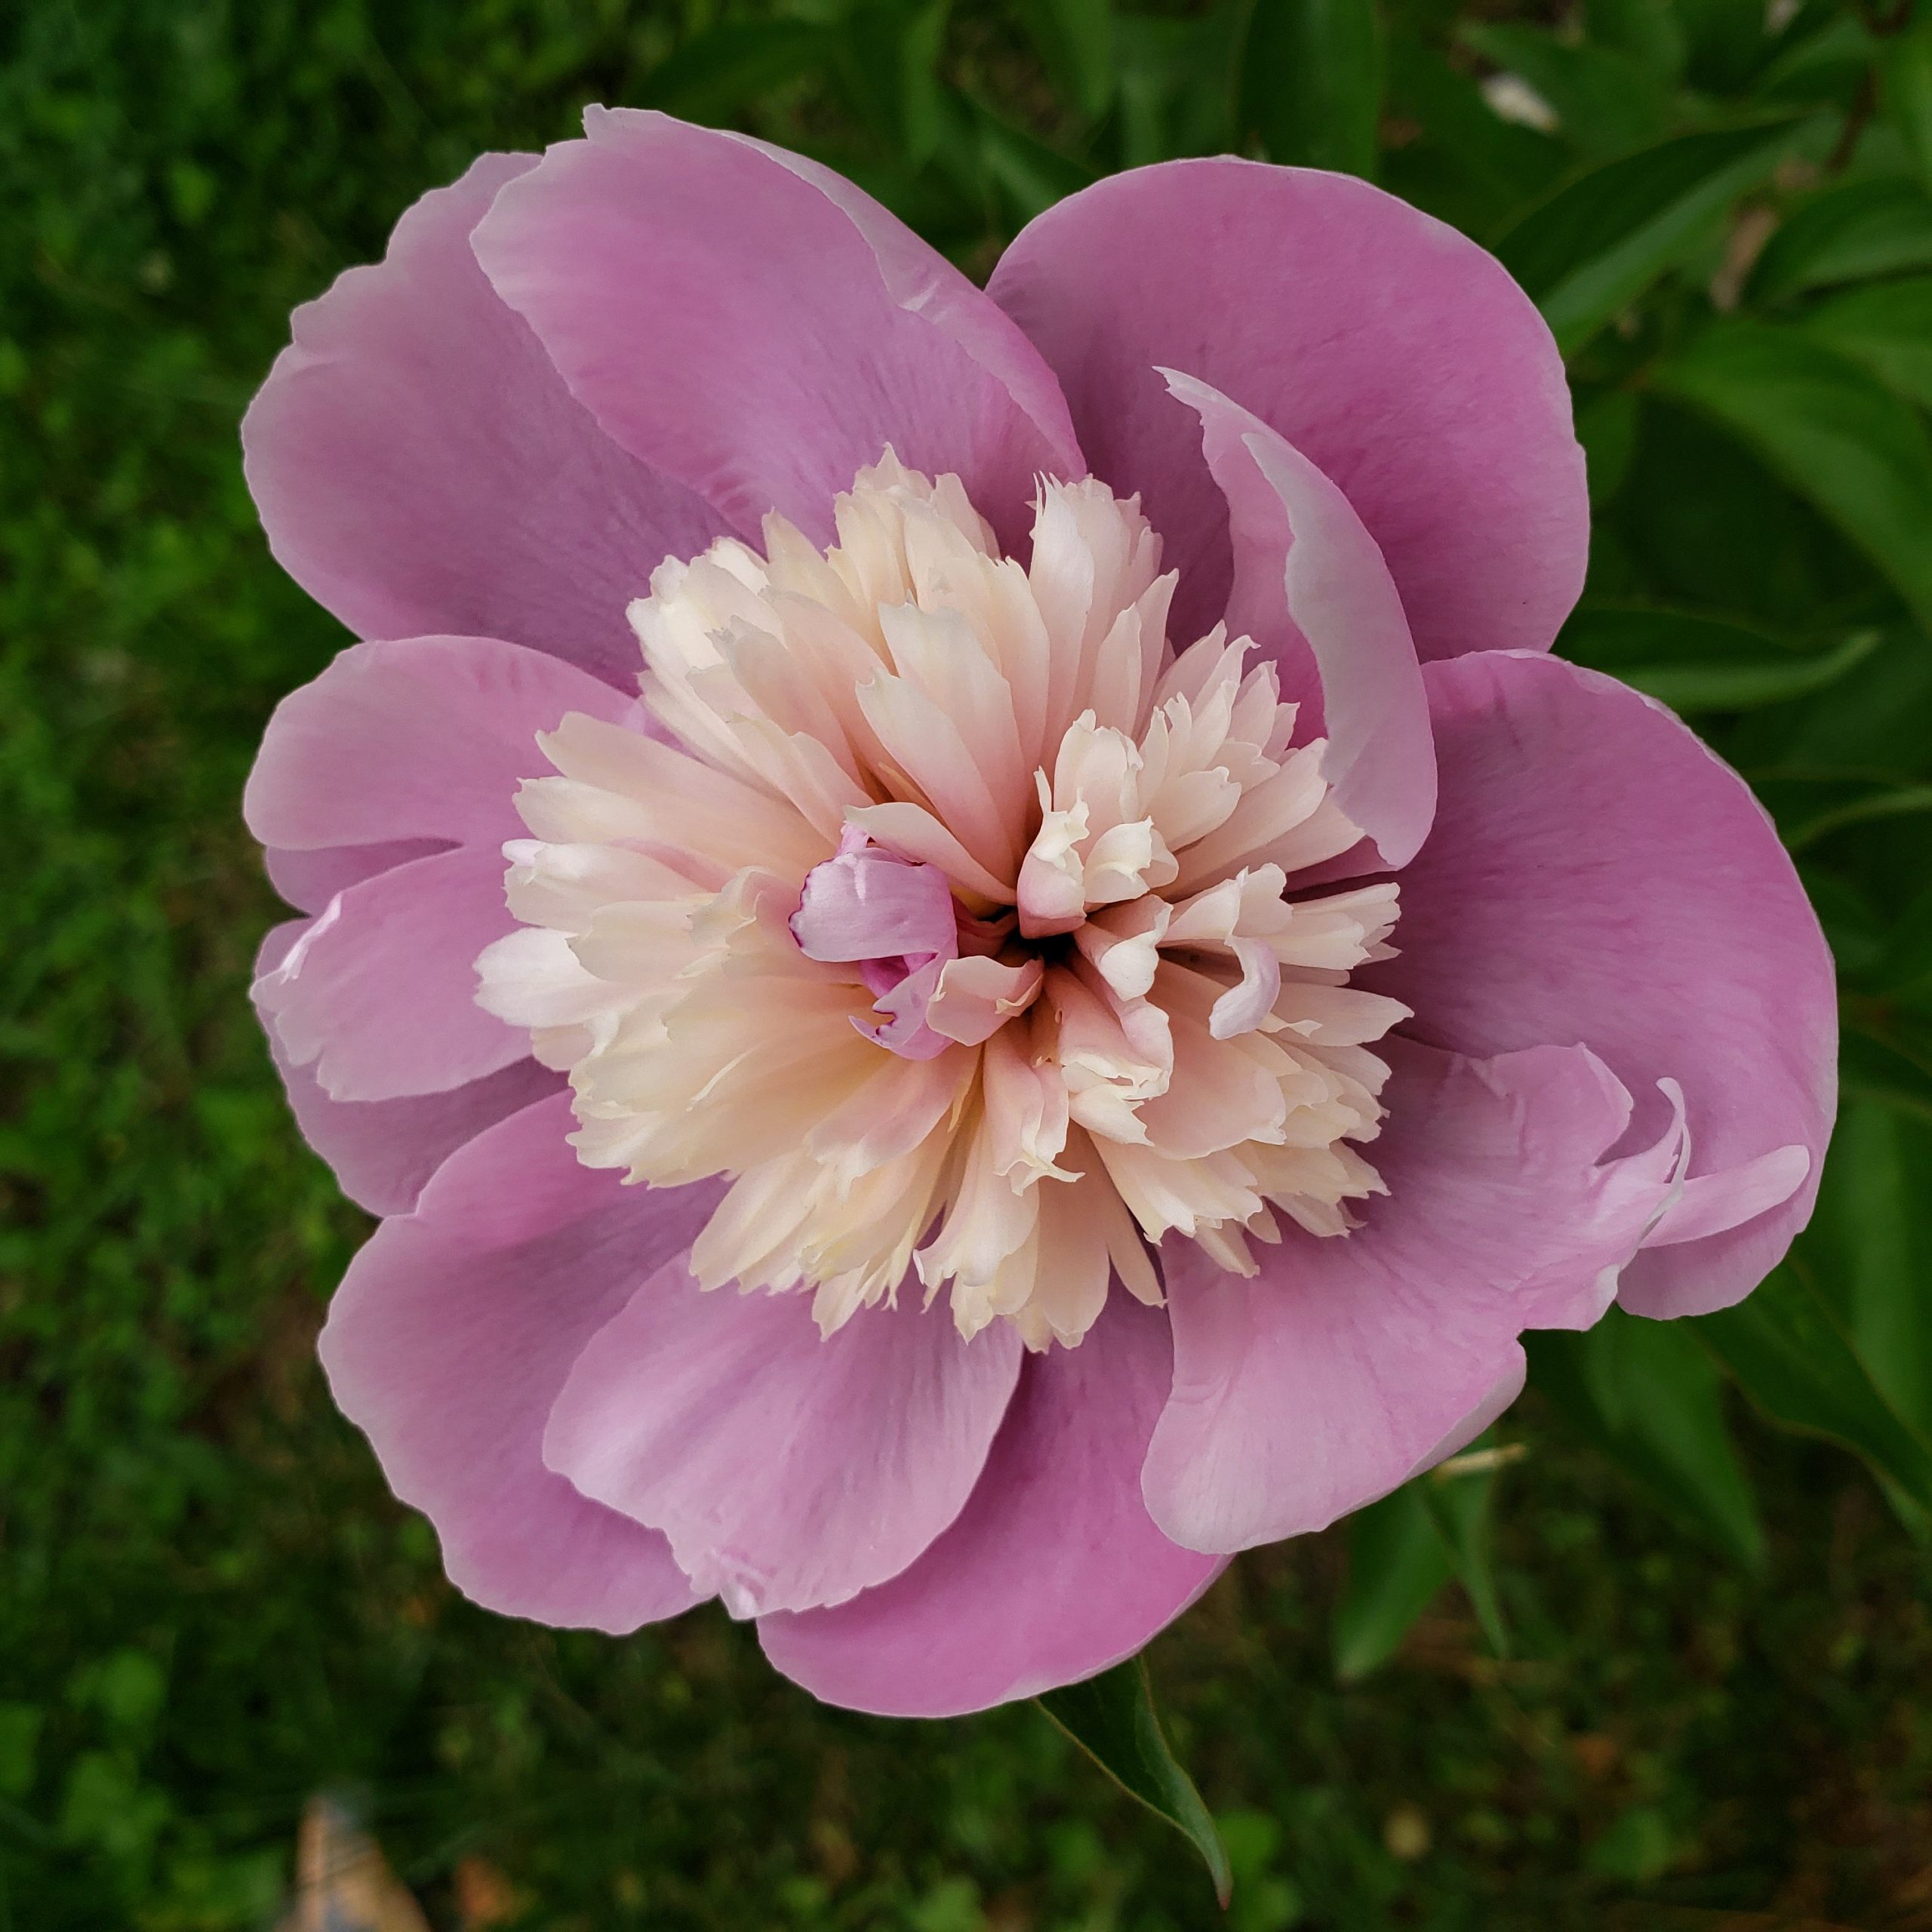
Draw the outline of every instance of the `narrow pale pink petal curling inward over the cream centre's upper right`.
[[[1435,753],[1416,645],[1376,539],[1335,485],[1264,421],[1163,371],[1202,419],[1235,549],[1229,632],[1281,667],[1304,707],[1296,738],[1327,734],[1321,777],[1383,866],[1406,866],[1435,813]]]

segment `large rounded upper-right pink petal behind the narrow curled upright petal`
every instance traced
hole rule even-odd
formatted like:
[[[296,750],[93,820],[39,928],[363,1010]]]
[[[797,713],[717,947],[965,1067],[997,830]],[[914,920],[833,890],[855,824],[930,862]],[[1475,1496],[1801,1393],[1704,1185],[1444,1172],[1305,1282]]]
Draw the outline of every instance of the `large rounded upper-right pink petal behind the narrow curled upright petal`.
[[[1493,257],[1406,203],[1248,160],[1136,168],[1047,209],[989,292],[1059,373],[1095,473],[1146,495],[1182,634],[1227,601],[1227,516],[1155,365],[1341,487],[1422,657],[1546,649],[1575,603],[1588,506],[1555,344]]]

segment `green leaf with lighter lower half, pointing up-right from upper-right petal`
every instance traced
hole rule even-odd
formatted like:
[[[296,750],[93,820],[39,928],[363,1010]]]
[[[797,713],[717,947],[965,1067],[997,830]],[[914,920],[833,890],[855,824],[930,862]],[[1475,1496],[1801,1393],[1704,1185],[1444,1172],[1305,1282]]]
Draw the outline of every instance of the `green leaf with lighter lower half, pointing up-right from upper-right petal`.
[[[1770,180],[1804,124],[1754,122],[1660,141],[1559,187],[1497,243],[1565,354],[1716,234]]]

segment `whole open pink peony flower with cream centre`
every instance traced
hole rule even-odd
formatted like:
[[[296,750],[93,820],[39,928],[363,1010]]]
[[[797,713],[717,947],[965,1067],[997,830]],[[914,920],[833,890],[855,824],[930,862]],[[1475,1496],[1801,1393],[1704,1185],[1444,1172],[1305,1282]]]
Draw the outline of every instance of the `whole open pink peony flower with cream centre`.
[[[981,292],[593,110],[301,309],[245,448],[369,639],[247,792],[255,997],[384,1217],[323,1358],[479,1604],[1037,1692],[1810,1211],[1816,922],[1546,655],[1555,348],[1362,182],[1144,168]]]

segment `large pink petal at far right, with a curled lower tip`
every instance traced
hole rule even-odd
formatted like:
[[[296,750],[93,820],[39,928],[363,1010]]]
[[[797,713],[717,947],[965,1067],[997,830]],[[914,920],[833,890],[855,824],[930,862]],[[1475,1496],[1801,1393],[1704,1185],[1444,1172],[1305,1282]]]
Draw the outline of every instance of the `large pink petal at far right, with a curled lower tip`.
[[[1623,1302],[1723,1308],[1808,1219],[1837,1095],[1832,956],[1791,860],[1737,773],[1611,678],[1484,655],[1426,680],[1441,804],[1403,873],[1401,958],[1364,978],[1463,1053],[1584,1041],[1640,1103],[1681,1082],[1675,1227],[1723,1227],[1719,1196],[1756,1213],[1648,1248]],[[1770,1209],[1768,1180],[1793,1186]]]

